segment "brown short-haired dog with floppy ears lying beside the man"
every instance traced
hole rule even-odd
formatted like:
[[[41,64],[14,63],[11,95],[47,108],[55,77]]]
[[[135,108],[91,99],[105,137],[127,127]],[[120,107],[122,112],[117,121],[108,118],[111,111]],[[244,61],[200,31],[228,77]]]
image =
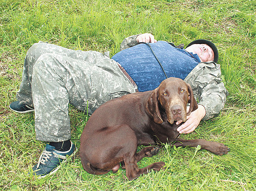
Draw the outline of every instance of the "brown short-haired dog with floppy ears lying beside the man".
[[[190,109],[186,113],[188,102]],[[186,115],[195,109],[197,102],[190,85],[178,78],[165,79],[153,91],[128,94],[106,102],[89,117],[82,132],[82,166],[88,173],[105,174],[110,170],[116,172],[121,163],[122,168],[126,168],[127,178],[132,180],[150,169],[159,171],[165,165],[160,161],[139,168],[137,161],[155,155],[158,149],[148,146],[136,153],[138,145],[200,145],[216,155],[226,154],[229,148],[222,143],[177,138],[179,125],[174,121],[185,122]]]

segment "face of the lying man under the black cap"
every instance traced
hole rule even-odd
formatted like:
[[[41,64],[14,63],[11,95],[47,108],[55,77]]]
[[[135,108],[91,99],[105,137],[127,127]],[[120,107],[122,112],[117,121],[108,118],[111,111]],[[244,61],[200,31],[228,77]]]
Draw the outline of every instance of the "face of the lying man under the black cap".
[[[188,52],[197,54],[202,62],[213,61],[213,50],[206,44],[193,44],[185,49]]]

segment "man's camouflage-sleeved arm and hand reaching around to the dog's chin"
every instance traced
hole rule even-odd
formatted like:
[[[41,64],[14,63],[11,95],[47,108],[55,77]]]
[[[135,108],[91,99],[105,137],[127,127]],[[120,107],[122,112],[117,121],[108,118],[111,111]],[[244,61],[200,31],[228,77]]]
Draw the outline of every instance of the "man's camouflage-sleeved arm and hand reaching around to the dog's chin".
[[[207,64],[206,64],[207,65]],[[191,133],[196,129],[200,120],[208,120],[218,114],[223,109],[226,102],[227,90],[220,78],[220,67],[202,67],[196,74],[188,76],[188,81],[195,90],[198,98],[198,109],[192,112],[187,121],[183,123],[177,130],[179,133]],[[178,121],[177,124],[181,123]]]

